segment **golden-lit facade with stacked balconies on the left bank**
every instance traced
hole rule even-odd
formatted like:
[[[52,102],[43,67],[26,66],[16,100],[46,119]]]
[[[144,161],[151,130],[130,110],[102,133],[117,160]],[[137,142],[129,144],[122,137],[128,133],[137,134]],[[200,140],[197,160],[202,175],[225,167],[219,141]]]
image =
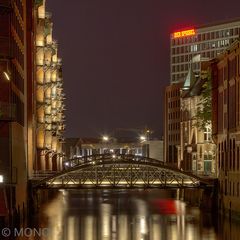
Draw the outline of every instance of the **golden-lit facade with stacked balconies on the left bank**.
[[[65,116],[62,61],[52,36],[51,14],[46,12],[45,0],[35,1],[34,10],[37,157],[33,169],[36,173],[61,170]]]

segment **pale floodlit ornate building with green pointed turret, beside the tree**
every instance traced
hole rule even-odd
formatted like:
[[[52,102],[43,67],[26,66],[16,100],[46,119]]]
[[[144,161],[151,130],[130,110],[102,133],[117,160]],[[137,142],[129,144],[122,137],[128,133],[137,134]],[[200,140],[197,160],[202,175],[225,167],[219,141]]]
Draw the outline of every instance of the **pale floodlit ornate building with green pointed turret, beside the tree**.
[[[201,73],[207,73],[209,63],[201,62]],[[216,145],[212,140],[211,122],[204,129],[197,125],[198,108],[203,107],[203,86],[209,81],[205,76],[195,76],[191,68],[181,92],[181,145],[178,166],[197,175],[215,173]],[[211,82],[209,83],[211,85]]]

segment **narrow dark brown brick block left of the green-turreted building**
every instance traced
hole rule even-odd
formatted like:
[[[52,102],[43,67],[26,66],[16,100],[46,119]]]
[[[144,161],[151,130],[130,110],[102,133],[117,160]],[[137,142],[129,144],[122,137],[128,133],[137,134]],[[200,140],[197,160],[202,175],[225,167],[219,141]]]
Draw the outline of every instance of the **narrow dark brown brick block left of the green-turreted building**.
[[[173,83],[165,89],[164,101],[164,159],[178,166],[180,147],[180,95],[183,82]]]

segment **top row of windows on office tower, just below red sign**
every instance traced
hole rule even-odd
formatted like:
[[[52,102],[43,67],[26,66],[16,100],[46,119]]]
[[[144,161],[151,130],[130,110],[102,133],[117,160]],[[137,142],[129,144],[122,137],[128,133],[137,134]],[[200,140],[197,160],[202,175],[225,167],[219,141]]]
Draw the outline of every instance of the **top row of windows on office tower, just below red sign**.
[[[219,38],[229,38],[231,36],[236,36],[238,34],[239,34],[238,27],[225,29],[225,30],[212,31],[207,33],[199,33],[194,36],[172,39],[172,45],[189,44],[193,42],[208,41],[208,40],[219,39]]]

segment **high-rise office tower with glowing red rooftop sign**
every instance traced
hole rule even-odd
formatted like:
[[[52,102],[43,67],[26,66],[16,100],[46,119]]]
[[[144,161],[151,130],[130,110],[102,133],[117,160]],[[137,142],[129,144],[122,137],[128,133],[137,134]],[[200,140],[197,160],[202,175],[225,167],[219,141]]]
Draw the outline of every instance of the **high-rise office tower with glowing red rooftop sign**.
[[[183,80],[194,56],[212,59],[231,45],[240,33],[240,19],[190,27],[170,35],[170,72],[171,83]],[[199,73],[199,62],[193,64],[193,70]]]

